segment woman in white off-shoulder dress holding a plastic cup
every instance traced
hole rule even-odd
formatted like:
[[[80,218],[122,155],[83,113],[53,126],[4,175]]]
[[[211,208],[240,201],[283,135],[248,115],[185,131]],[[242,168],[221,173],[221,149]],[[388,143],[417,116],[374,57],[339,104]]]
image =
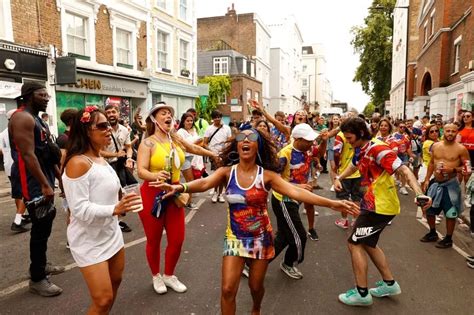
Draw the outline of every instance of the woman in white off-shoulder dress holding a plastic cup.
[[[117,216],[141,205],[136,194],[119,200],[119,178],[100,155],[111,141],[111,126],[97,107],[74,116],[62,179],[71,211],[67,237],[90,291],[89,314],[107,314],[112,308],[125,262]]]

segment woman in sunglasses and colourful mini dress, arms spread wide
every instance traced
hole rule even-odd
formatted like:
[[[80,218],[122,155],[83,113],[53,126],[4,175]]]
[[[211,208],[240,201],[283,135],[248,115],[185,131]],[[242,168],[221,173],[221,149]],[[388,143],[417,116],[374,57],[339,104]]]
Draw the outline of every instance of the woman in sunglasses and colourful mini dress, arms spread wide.
[[[252,314],[259,314],[265,293],[263,282],[268,263],[275,255],[273,233],[267,211],[270,189],[293,198],[335,211],[356,214],[358,208],[349,201],[333,201],[319,197],[283,180],[274,144],[256,129],[236,135],[221,153],[225,167],[209,177],[185,184],[152,183],[176,193],[202,192],[226,184],[229,203],[227,229],[222,260],[221,312],[236,313],[236,296],[246,261],[250,264],[249,287],[253,299]]]

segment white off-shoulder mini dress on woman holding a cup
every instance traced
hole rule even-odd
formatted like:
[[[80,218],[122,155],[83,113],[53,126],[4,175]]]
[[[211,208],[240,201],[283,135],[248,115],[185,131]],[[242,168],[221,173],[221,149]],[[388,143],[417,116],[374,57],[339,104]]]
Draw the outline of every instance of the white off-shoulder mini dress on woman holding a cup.
[[[86,267],[113,257],[124,246],[118,218],[113,215],[121,189],[114,169],[92,163],[81,177],[72,179],[64,172],[62,178],[71,211],[67,239],[77,265]]]

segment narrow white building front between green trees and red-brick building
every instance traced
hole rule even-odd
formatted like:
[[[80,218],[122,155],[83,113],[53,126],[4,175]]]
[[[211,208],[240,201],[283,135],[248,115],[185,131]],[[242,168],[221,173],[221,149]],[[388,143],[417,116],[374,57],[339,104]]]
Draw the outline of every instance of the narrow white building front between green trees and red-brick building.
[[[385,110],[394,118],[403,118],[405,103],[405,74],[407,65],[407,22],[409,0],[398,0],[393,11],[392,84],[390,105]],[[397,8],[399,7],[399,8]],[[413,117],[413,106],[407,107],[407,117]]]

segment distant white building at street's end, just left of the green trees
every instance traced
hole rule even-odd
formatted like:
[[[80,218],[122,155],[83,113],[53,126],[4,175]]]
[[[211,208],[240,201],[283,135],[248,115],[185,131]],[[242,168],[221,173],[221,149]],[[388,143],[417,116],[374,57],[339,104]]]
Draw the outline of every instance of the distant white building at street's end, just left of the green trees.
[[[333,92],[327,78],[326,57],[322,44],[303,45],[301,92],[311,110],[331,107]]]

